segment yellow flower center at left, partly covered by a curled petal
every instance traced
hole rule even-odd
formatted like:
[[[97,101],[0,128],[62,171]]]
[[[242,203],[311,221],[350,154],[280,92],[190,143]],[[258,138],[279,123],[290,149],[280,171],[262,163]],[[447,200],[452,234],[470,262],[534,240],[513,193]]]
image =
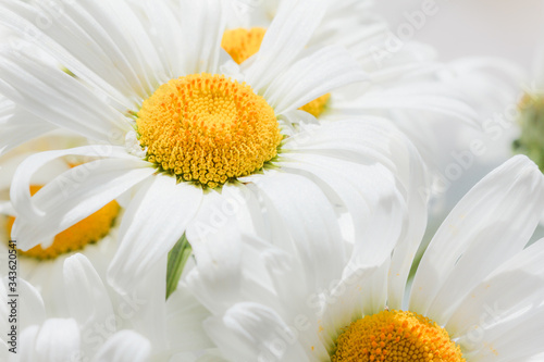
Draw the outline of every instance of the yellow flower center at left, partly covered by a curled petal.
[[[30,194],[38,192],[41,186],[30,186]],[[69,227],[54,237],[53,242],[46,249],[36,246],[27,251],[18,250],[18,253],[39,260],[54,259],[61,254],[76,251],[85,248],[88,244],[95,244],[110,233],[111,226],[120,211],[116,201],[111,201],[102,209],[82,220],[77,224]],[[8,217],[8,232],[11,228],[15,217]]]

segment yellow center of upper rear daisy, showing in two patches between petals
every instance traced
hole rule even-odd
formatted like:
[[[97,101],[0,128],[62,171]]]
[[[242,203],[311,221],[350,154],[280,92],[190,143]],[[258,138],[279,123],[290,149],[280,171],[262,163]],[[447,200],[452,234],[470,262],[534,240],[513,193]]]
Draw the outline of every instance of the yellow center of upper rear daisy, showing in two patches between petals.
[[[259,51],[262,39],[264,38],[264,33],[267,33],[267,30],[262,27],[226,30],[223,34],[221,47],[231,54],[236,63],[242,64],[245,60]],[[330,98],[330,93],[323,95],[308,104],[300,107],[299,110],[319,117],[325,111]]]

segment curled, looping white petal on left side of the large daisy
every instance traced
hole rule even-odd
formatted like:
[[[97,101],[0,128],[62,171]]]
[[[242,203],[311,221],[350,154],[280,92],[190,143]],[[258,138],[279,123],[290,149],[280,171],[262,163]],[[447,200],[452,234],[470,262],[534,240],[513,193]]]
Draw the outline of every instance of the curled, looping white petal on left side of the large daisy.
[[[21,248],[34,247],[74,225],[154,172],[150,163],[131,157],[124,149],[109,148],[107,157],[71,168],[29,195],[32,175],[48,161],[66,154],[100,155],[97,147],[49,151],[26,159],[17,168],[11,199],[17,212],[12,235]]]

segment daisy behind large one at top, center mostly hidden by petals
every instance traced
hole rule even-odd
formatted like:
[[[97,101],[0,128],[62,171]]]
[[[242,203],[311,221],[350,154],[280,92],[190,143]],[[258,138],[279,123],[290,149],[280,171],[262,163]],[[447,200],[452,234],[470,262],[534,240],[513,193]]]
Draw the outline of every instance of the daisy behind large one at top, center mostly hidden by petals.
[[[231,3],[228,30],[222,46],[242,63],[257,52],[271,21],[288,1],[232,0]],[[302,110],[320,122],[358,114],[383,114],[396,120],[409,135],[422,132],[425,123],[418,122],[422,117],[426,124],[446,117],[461,125],[474,123],[478,115],[459,100],[462,93],[440,79],[440,73],[447,72],[449,66],[435,61],[431,47],[396,35],[373,9],[372,1],[331,0],[326,5],[326,14],[310,45],[342,45],[369,73],[370,82],[363,87],[336,89],[306,104]],[[417,125],[413,122],[418,122]]]

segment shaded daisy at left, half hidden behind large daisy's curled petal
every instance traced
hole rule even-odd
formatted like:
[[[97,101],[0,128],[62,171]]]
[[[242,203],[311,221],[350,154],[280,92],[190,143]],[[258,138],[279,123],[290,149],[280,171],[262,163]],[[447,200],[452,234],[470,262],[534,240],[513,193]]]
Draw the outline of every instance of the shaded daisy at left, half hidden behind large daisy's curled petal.
[[[10,200],[10,187],[16,167],[28,157],[53,148],[84,145],[85,140],[74,135],[52,133],[41,136],[0,157],[0,254],[8,255],[8,241],[17,217]],[[57,176],[83,164],[82,159],[57,159],[39,170],[30,180],[30,192],[36,194]],[[59,190],[62,194],[62,189]],[[58,280],[62,276],[64,260],[74,252],[83,252],[102,276],[116,250],[116,220],[121,207],[112,200],[65,230],[28,250],[18,250],[18,275],[35,286],[48,301],[48,314],[59,315],[65,309],[64,290]],[[15,240],[16,241],[16,240]],[[18,244],[17,244],[18,247]],[[5,259],[7,260],[7,259]],[[1,271],[4,275],[8,270]]]

